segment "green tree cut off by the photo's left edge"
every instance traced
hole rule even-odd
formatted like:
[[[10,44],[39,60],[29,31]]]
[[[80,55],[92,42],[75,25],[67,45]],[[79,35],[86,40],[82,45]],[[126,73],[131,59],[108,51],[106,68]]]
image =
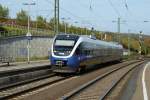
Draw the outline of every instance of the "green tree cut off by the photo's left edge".
[[[0,5],[0,21],[6,21],[9,17],[9,9]]]

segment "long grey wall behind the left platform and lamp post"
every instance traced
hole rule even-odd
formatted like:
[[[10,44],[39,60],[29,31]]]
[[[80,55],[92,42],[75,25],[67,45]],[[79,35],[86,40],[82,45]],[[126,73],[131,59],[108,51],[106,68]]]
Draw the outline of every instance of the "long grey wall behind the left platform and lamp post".
[[[0,57],[13,57],[15,61],[27,61],[26,36],[0,39]],[[30,40],[30,59],[48,59],[52,37],[33,36]]]

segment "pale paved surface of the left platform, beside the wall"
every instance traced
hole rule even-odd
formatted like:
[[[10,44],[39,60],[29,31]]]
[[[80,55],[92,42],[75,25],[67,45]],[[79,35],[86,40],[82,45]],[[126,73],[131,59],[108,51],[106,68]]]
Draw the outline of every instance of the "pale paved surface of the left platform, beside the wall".
[[[20,69],[21,70],[30,69],[30,68],[41,67],[41,66],[50,66],[49,60],[31,61],[29,64],[27,62],[13,62],[10,63],[9,66],[5,63],[0,63],[0,73],[20,70]]]

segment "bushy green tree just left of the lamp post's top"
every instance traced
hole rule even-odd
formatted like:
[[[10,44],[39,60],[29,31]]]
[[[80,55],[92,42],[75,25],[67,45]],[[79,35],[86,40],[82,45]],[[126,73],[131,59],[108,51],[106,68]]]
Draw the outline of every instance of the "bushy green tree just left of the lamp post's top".
[[[27,12],[24,10],[21,10],[17,13],[17,24],[27,26],[28,22],[28,15]]]

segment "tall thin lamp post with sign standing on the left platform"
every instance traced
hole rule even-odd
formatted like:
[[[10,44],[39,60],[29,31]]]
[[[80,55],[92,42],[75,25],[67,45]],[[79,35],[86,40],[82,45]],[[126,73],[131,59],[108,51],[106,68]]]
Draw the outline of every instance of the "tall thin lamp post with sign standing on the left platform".
[[[28,5],[28,32],[26,34],[27,37],[27,62],[28,64],[30,63],[30,40],[32,39],[32,34],[30,33],[30,15],[29,15],[29,11],[30,11],[30,5],[35,5],[35,3],[24,3],[23,5]]]

